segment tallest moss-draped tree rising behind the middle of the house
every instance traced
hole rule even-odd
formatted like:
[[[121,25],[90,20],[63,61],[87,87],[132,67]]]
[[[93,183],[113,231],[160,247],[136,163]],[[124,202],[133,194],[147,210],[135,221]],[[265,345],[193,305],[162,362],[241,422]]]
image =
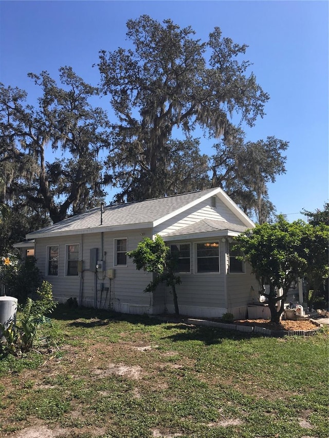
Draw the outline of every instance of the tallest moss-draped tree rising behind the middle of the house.
[[[209,137],[228,138],[234,114],[249,126],[264,115],[269,97],[254,74],[247,74],[250,63],[242,60],[247,46],[223,37],[218,27],[204,43],[194,34],[191,27],[142,15],[127,22],[132,48],[100,52],[102,90],[118,119],[108,178],[121,188],[120,200],[171,193],[172,175],[182,164],[182,155],[171,149],[175,129],[189,136],[199,126]],[[193,152],[192,143],[184,147],[185,156]],[[200,157],[195,158],[194,167]]]

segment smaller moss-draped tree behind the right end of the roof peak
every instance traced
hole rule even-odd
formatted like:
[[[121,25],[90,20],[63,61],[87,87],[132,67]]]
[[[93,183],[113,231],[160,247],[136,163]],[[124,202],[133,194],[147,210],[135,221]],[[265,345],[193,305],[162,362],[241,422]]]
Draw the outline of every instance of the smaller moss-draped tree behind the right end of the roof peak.
[[[237,129],[233,137],[214,145],[212,185],[222,187],[246,214],[255,214],[259,223],[267,222],[275,213],[267,185],[285,173],[282,151],[287,147],[287,142],[275,137],[245,142],[244,133]]]

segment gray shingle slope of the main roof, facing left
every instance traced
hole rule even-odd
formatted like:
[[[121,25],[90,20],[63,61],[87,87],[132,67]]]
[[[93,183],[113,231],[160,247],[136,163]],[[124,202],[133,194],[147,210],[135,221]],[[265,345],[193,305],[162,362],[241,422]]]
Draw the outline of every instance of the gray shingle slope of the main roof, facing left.
[[[168,196],[165,198],[150,199],[140,202],[109,205],[103,213],[103,224],[100,225],[100,207],[95,207],[88,212],[72,216],[61,222],[50,225],[41,230],[28,234],[28,237],[41,237],[48,234],[69,234],[80,230],[101,231],[102,227],[117,225],[149,224],[162,217],[174,213],[179,208],[198,200],[201,196],[210,194],[215,189],[210,188],[202,192],[192,192],[184,195]]]

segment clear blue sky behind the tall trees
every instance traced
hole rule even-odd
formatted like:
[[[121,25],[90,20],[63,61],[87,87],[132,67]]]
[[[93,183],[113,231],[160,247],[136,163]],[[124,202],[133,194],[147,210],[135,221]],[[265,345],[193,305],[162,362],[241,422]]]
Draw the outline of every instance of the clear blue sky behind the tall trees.
[[[328,198],[328,2],[324,1],[0,1],[0,81],[35,86],[28,72],[72,66],[97,85],[101,49],[126,47],[125,23],[149,14],[190,25],[207,40],[215,26],[234,42],[247,44],[246,59],[269,93],[266,116],[247,130],[247,140],[276,136],[289,142],[287,173],[269,186],[277,212],[289,220],[305,208],[322,208]],[[103,106],[109,110],[106,98]],[[213,141],[202,139],[203,153]],[[110,195],[111,198],[111,195]]]

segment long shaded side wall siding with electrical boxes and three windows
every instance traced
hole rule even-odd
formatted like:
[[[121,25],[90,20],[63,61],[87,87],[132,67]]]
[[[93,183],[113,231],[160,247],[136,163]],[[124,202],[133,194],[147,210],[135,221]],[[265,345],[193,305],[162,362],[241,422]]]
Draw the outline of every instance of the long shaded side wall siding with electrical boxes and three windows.
[[[86,307],[113,309],[123,313],[158,313],[163,311],[161,301],[157,302],[156,311],[153,311],[153,295],[144,293],[146,285],[152,279],[152,274],[137,271],[131,259],[127,259],[127,266],[114,265],[114,239],[127,238],[128,251],[136,249],[143,237],[151,237],[150,230],[138,230],[115,233],[92,233],[76,236],[64,236],[36,239],[37,264],[43,277],[52,284],[54,298],[65,302],[68,298],[77,298],[77,301]],[[83,272],[78,277],[64,276],[65,272],[65,245],[80,244],[80,260],[83,260]],[[59,274],[48,276],[46,273],[47,246],[59,245]],[[98,248],[98,259],[105,263],[105,272],[95,275],[90,270],[90,250]],[[115,278],[107,277],[107,270],[115,270]],[[97,292],[95,298],[95,291]]]

